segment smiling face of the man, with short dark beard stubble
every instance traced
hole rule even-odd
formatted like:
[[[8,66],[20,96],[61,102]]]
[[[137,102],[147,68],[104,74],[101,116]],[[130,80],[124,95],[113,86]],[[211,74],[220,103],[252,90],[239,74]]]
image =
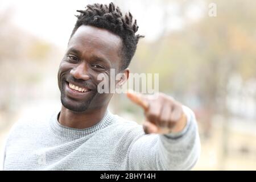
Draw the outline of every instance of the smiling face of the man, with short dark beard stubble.
[[[69,40],[58,72],[64,107],[82,112],[108,105],[112,94],[97,92],[97,85],[101,82],[97,76],[104,73],[110,77],[110,69],[119,72],[121,47],[121,38],[108,30],[93,26],[77,29]]]

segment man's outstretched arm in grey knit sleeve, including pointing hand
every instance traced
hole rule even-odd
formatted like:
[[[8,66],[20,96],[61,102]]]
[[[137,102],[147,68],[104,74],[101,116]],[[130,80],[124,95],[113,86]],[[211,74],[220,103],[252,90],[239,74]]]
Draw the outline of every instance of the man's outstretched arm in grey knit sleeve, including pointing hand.
[[[129,151],[130,170],[188,170],[200,155],[193,111],[165,94],[158,97],[127,93],[144,109],[146,134]]]

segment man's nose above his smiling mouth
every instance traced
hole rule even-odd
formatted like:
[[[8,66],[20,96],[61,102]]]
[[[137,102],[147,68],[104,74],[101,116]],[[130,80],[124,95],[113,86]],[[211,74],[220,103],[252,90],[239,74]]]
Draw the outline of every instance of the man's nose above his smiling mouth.
[[[71,69],[70,74],[76,79],[89,80],[87,65],[83,61],[77,67]]]

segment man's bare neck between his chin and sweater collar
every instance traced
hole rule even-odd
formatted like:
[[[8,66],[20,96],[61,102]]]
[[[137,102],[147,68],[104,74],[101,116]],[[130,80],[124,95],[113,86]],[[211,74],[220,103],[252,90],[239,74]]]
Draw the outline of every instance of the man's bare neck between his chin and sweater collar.
[[[85,129],[100,122],[106,113],[107,107],[108,105],[99,109],[77,113],[62,106],[58,121],[63,126]]]

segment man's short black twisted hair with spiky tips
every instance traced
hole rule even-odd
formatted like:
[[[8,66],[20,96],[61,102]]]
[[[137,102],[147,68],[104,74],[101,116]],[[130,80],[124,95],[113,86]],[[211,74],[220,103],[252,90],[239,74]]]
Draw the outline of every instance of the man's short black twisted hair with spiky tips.
[[[121,50],[123,64],[121,69],[127,68],[134,56],[139,38],[144,37],[139,34],[135,35],[139,26],[137,26],[136,19],[133,21],[133,15],[129,12],[123,16],[119,7],[115,6],[113,2],[109,3],[109,5],[94,3],[93,5],[87,5],[85,10],[77,10],[77,12],[80,15],[76,15],[77,22],[71,37],[81,25],[105,28],[113,32],[122,39],[123,43]]]

